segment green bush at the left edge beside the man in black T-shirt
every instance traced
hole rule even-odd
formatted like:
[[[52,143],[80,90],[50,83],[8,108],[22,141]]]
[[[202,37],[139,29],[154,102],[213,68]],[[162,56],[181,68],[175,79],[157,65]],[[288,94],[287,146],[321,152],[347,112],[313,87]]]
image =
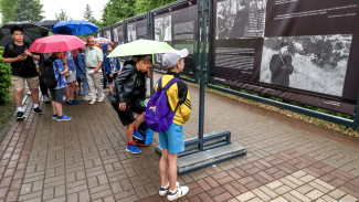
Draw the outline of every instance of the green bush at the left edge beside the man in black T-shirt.
[[[0,105],[3,105],[9,94],[11,85],[10,64],[2,61],[2,52],[0,50]]]

